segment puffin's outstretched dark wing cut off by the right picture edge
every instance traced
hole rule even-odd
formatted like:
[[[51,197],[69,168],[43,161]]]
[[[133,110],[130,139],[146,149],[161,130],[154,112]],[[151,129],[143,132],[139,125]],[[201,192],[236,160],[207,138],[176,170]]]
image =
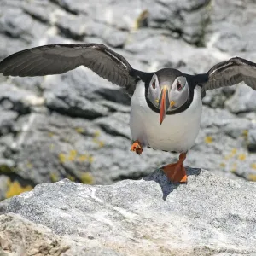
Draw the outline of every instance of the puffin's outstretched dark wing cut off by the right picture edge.
[[[242,81],[256,90],[256,64],[235,57],[213,66],[208,72],[208,81],[202,84],[203,90],[239,84]]]

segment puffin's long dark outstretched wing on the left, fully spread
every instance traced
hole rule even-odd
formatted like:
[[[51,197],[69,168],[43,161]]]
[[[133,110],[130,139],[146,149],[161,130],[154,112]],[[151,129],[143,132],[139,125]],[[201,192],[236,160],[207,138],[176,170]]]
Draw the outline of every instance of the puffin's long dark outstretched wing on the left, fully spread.
[[[25,49],[1,61],[0,73],[5,76],[44,76],[66,73],[81,65],[124,87],[130,96],[139,80],[138,73],[128,61],[103,44],[49,44]]]

